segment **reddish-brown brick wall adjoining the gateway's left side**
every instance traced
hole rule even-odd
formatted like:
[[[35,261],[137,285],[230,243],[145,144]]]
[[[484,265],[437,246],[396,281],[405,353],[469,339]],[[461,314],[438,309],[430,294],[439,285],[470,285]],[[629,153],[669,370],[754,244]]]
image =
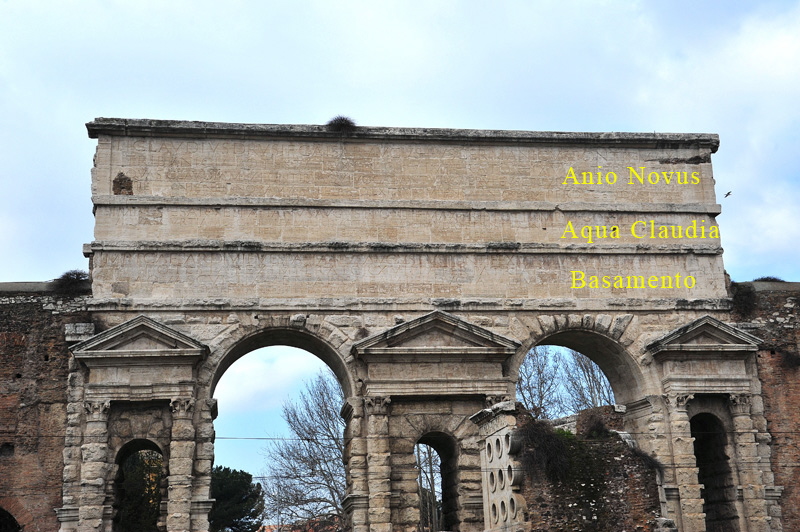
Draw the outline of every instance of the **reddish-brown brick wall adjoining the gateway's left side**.
[[[70,364],[64,331],[90,321],[86,298],[0,291],[0,508],[26,532],[58,530]]]

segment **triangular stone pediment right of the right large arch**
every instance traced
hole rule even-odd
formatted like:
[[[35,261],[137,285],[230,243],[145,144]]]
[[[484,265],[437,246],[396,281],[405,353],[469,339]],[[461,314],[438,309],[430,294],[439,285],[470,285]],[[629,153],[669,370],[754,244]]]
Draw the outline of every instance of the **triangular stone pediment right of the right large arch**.
[[[756,351],[760,338],[711,316],[704,316],[656,340],[647,351]]]

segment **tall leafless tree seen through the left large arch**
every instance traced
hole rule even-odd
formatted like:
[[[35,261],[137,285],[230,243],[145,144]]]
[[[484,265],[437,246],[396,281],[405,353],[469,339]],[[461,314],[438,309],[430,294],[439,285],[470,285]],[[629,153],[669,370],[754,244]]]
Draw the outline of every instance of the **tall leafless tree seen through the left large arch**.
[[[272,442],[264,452],[262,480],[266,513],[276,524],[336,516],[342,523],[345,496],[344,395],[335,377],[323,371],[308,381],[296,401],[283,404],[291,437]]]

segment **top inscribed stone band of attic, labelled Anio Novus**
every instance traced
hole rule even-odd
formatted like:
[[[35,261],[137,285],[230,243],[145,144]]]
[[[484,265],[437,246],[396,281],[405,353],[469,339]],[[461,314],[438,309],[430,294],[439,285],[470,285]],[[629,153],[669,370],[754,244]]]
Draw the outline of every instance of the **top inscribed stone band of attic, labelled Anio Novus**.
[[[93,194],[124,173],[137,196],[293,200],[704,204],[716,135],[539,133],[98,119]],[[641,184],[645,172],[690,182]],[[562,185],[570,168],[615,185]],[[696,174],[696,183],[691,175]]]

